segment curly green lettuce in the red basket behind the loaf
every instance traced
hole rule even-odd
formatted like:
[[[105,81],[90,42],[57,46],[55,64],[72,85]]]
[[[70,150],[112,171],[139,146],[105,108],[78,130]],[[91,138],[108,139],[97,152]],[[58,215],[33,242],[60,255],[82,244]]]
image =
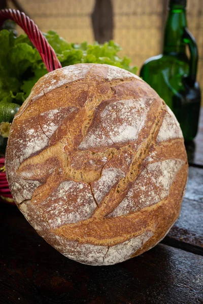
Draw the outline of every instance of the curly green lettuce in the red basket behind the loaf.
[[[62,66],[76,63],[107,63],[132,73],[136,66],[130,66],[130,59],[120,58],[120,46],[113,41],[103,45],[68,43],[55,31],[44,33],[55,50]],[[47,73],[39,52],[26,35],[16,35],[6,29],[0,31],[0,103],[22,104],[36,82]]]

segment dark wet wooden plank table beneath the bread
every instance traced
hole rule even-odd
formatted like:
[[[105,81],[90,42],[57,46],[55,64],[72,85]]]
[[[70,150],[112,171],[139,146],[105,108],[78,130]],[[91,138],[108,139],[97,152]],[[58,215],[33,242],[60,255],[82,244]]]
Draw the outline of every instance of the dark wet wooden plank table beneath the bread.
[[[49,246],[17,207],[1,204],[0,304],[203,303],[203,111],[187,145],[181,215],[155,248],[108,267],[72,261]]]

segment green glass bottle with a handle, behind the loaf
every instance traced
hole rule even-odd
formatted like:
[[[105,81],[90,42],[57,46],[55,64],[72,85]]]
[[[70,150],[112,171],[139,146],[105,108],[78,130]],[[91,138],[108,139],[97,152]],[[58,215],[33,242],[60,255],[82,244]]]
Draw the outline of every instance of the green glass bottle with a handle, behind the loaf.
[[[147,59],[140,75],[173,110],[185,141],[190,141],[197,133],[201,100],[197,46],[187,29],[186,0],[171,0],[168,11],[163,54]]]

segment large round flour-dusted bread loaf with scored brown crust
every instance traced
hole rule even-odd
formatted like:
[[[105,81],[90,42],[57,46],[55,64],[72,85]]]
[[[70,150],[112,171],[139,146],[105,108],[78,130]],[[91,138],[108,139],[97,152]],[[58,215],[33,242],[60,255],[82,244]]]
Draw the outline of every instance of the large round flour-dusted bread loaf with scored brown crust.
[[[187,169],[170,108],[137,75],[106,64],[42,77],[6,153],[26,219],[59,252],[91,265],[155,246],[179,216]]]

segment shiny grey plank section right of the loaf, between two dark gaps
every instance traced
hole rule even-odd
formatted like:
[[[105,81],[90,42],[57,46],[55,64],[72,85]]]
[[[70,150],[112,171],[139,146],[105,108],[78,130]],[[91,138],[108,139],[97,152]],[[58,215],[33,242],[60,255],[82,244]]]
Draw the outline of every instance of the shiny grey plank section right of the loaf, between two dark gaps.
[[[203,169],[189,167],[180,217],[162,242],[203,255]]]

